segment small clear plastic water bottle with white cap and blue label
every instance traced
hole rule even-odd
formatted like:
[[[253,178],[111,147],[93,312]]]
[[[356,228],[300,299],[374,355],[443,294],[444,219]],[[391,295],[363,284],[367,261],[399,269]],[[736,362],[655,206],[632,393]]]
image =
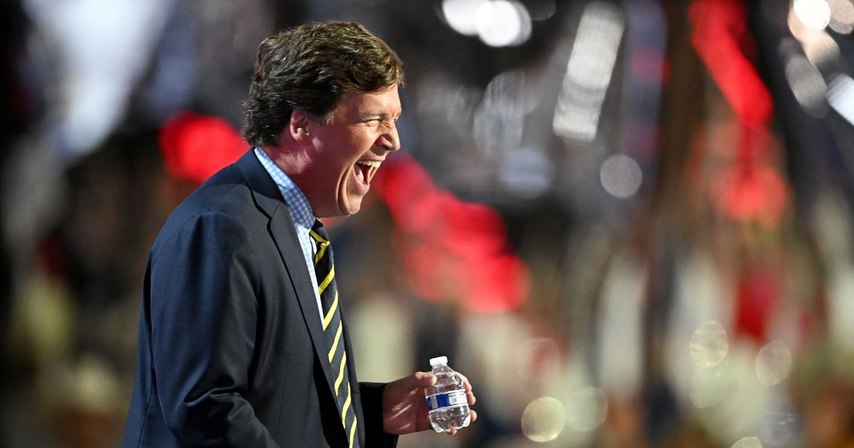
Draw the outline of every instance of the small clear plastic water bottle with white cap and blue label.
[[[436,433],[445,433],[452,428],[469,426],[471,414],[463,379],[447,366],[447,357],[430,359],[430,367],[430,373],[436,375],[436,385],[427,388],[424,395],[433,429]]]

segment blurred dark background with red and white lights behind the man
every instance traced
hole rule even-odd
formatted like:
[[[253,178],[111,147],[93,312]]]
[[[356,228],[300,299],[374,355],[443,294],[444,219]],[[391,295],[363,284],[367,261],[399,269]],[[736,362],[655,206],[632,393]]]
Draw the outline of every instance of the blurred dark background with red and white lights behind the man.
[[[0,446],[119,444],[150,244],[333,19],[407,70],[330,223],[360,380],[477,393],[401,447],[854,446],[850,0],[3,0]]]

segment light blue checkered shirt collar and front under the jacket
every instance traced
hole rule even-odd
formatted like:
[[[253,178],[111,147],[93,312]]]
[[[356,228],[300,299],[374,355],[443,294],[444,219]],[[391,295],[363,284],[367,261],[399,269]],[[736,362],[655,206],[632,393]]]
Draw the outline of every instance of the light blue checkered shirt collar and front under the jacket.
[[[270,173],[272,180],[278,185],[278,190],[282,192],[284,201],[288,204],[290,216],[294,221],[294,230],[296,236],[300,238],[300,247],[302,247],[302,256],[306,259],[306,267],[308,275],[312,277],[314,285],[314,298],[318,302],[318,314],[320,321],[323,322],[323,305],[320,305],[320,293],[318,291],[318,280],[314,276],[314,253],[317,247],[314,245],[312,237],[308,235],[308,231],[312,230],[314,225],[314,212],[311,204],[308,203],[306,195],[302,194],[300,187],[296,186],[294,181],[290,180],[281,168],[279,168],[260,148],[255,148],[255,157],[261,162],[266,171]]]

